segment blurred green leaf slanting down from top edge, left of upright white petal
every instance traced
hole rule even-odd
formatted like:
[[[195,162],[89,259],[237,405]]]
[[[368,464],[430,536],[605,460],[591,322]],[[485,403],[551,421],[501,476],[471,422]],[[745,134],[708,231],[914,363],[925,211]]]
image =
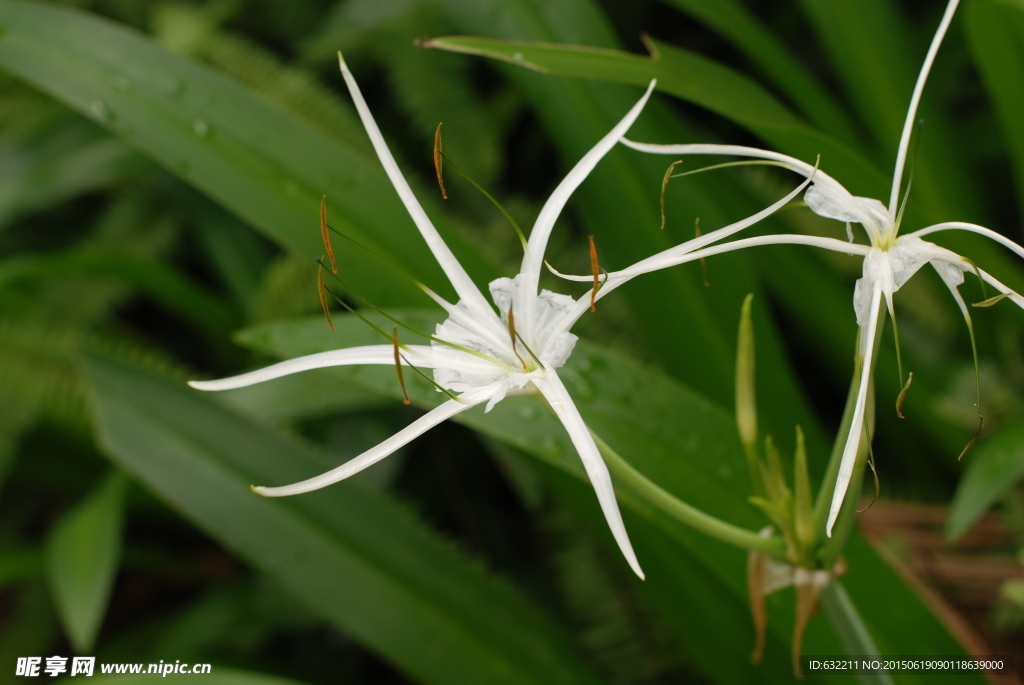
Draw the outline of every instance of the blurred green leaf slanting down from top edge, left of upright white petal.
[[[718,32],[742,51],[751,66],[772,79],[804,115],[848,144],[855,144],[857,135],[852,121],[843,108],[818,84],[785,45],[759,22],[738,0],[663,0],[666,4],[690,14]]]

